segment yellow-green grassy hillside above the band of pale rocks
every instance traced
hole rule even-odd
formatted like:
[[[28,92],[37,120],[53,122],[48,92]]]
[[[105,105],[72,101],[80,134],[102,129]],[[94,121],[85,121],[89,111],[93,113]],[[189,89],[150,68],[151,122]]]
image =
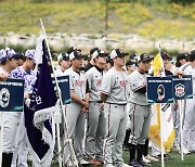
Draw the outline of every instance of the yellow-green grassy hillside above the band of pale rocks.
[[[160,2],[160,1],[159,1]],[[105,2],[91,1],[0,1],[0,33],[38,34],[39,18],[48,33],[103,34]],[[138,34],[152,39],[195,37],[195,2],[177,3],[108,3],[108,33]],[[93,38],[93,37],[92,37]]]

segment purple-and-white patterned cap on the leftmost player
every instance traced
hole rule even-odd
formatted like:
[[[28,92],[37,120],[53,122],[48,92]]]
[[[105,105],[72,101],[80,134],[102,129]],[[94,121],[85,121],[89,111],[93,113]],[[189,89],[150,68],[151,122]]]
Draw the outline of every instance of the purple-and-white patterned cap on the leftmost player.
[[[15,57],[15,51],[11,48],[4,48],[0,50],[0,61],[5,62],[6,60]]]

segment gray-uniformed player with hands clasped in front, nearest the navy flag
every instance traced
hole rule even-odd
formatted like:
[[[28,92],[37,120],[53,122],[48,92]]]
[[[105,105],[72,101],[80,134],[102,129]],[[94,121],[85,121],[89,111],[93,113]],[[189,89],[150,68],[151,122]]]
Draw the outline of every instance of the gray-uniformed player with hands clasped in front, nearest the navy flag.
[[[86,77],[80,72],[82,66],[82,55],[77,50],[69,54],[72,66],[65,72],[69,76],[72,103],[67,104],[65,111],[67,120],[67,134],[74,141],[74,149],[80,165],[89,164],[83,159],[82,139],[84,133],[86,112],[88,112],[88,103],[86,102]],[[72,163],[69,144],[65,145],[64,163],[66,166],[75,166]]]

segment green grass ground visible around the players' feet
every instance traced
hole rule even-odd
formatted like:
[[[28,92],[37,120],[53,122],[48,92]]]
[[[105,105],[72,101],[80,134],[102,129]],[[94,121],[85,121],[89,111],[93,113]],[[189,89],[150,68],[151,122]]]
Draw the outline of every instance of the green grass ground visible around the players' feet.
[[[172,159],[165,159],[165,167],[195,167],[195,153],[184,155],[184,160],[181,160],[181,155],[178,152],[171,152],[170,155],[173,157]],[[129,153],[123,151],[123,159],[125,163],[128,163]],[[161,167],[161,162],[152,163],[153,167]],[[57,164],[52,165],[52,167],[58,167]],[[93,166],[86,166],[93,167]]]

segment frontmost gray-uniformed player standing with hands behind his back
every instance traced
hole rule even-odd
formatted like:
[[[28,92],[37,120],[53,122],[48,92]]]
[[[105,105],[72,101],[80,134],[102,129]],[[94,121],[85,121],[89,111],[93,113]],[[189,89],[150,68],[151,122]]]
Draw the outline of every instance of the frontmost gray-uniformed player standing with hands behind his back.
[[[122,143],[126,134],[128,101],[128,75],[123,70],[125,55],[119,49],[110,52],[114,66],[105,74],[101,85],[101,99],[105,102],[106,136],[104,142],[104,166],[128,167],[122,159]],[[112,157],[113,155],[113,157]]]

